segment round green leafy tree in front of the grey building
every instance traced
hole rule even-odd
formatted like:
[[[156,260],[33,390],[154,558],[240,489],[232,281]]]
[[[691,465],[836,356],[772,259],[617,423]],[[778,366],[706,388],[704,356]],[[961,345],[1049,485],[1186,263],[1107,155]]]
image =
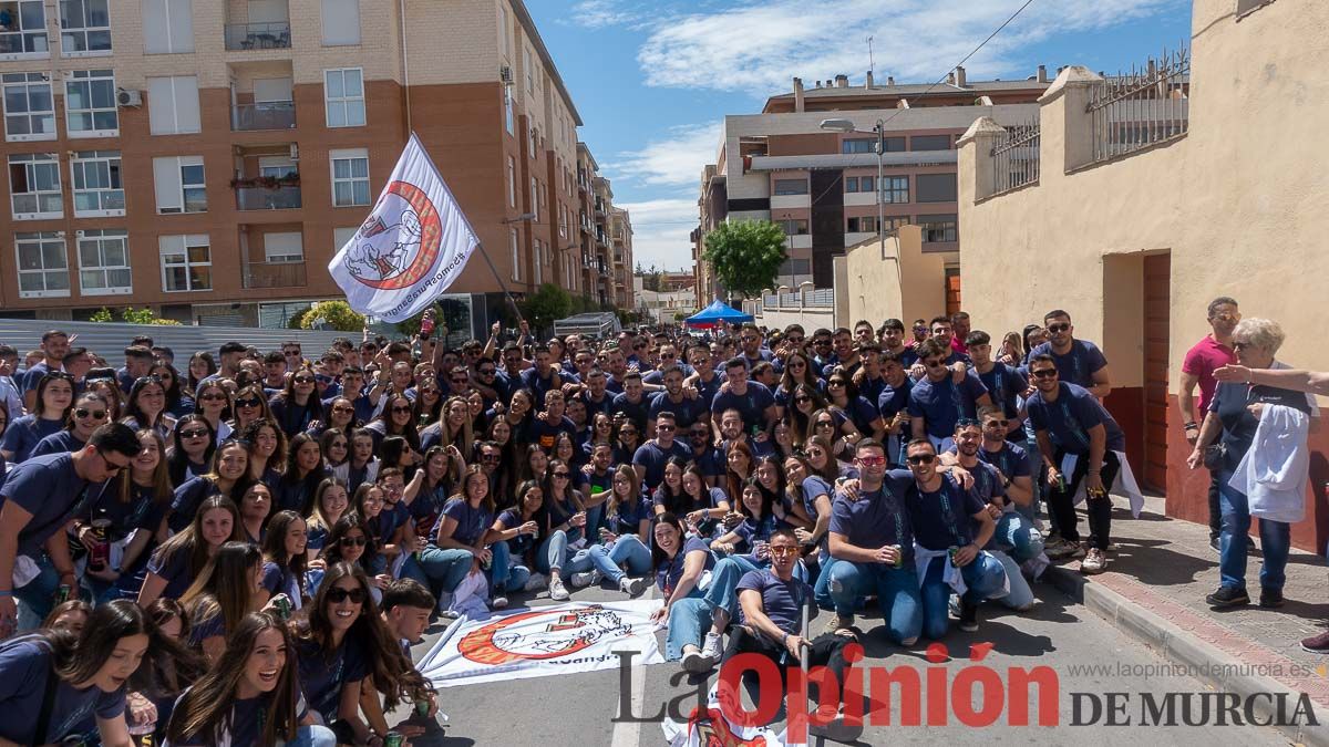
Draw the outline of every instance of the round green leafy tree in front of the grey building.
[[[726,221],[706,234],[702,259],[731,292],[752,298],[775,286],[788,259],[784,229],[771,221]]]

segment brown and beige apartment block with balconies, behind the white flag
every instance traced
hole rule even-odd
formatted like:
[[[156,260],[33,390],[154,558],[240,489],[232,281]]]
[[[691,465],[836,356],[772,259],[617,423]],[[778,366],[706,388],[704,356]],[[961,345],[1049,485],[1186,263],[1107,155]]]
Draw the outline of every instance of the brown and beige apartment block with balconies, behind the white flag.
[[[514,295],[583,292],[571,94],[521,0],[0,0],[0,308],[280,324],[416,132]],[[502,307],[476,258],[453,330]]]

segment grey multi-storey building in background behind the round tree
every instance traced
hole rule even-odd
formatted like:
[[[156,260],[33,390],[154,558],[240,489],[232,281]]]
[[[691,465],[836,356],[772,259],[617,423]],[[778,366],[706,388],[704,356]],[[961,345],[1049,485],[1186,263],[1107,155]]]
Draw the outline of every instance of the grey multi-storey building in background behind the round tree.
[[[956,138],[977,116],[1003,124],[1037,117],[1047,72],[1019,81],[970,81],[956,68],[946,84],[861,85],[848,76],[772,96],[759,114],[730,114],[718,161],[702,174],[700,225],[694,233],[698,290],[714,292],[702,267],[706,234],[724,219],[769,219],[788,235],[789,258],[780,284],[831,287],[832,258],[877,235],[877,191],[884,227],[922,227],[924,249],[948,255],[958,274]],[[853,122],[856,133],[831,132],[828,118]],[[877,183],[877,136],[882,122],[884,171]]]

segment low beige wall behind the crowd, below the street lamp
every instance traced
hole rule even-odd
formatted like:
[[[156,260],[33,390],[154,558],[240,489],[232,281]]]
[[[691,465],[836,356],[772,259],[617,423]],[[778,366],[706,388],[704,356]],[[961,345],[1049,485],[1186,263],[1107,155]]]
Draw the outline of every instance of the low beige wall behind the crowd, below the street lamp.
[[[876,238],[849,247],[844,275],[848,314],[841,322],[849,326],[868,319],[881,324],[884,319],[930,319],[944,312],[946,262],[957,257],[957,253],[925,254],[918,226],[901,226],[897,234],[888,235],[885,251]]]

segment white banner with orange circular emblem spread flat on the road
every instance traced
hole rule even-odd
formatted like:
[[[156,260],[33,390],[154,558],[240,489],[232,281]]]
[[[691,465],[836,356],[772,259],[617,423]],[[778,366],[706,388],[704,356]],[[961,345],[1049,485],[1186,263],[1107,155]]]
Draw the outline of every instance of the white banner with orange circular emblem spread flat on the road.
[[[419,662],[436,687],[661,663],[650,615],[661,602],[565,603],[453,622]]]

